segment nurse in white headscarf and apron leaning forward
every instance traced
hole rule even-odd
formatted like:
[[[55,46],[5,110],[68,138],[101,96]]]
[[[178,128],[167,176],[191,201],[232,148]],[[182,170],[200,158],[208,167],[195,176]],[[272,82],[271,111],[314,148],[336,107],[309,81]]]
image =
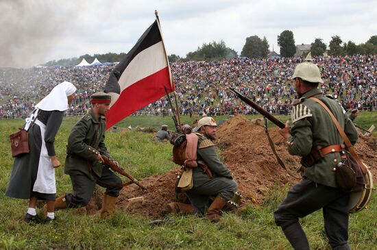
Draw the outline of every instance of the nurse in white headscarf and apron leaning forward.
[[[5,195],[29,199],[25,215],[28,223],[42,223],[36,214],[38,199],[47,201],[46,221],[55,219],[55,168],[60,166],[54,147],[55,136],[62,124],[64,111],[75,97],[76,87],[62,82],[42,99],[33,114],[26,119],[29,129],[30,153],[14,158],[12,173]]]

